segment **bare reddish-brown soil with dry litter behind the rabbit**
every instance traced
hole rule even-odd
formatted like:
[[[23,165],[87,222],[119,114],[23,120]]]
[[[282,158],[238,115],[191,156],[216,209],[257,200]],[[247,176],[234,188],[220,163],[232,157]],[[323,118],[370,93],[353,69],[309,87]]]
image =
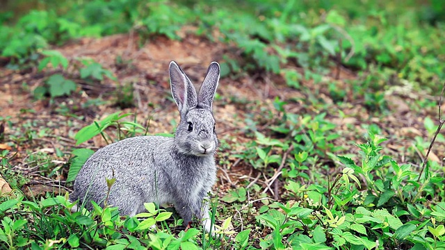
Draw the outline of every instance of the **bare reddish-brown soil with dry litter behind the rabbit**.
[[[164,37],[154,38],[141,43],[137,35],[122,34],[106,38],[84,38],[54,49],[63,53],[72,63],[68,72],[76,70],[75,58],[92,58],[105,69],[111,70],[118,78],[117,81],[106,79],[102,83],[79,83],[79,92],[67,98],[55,99],[54,103],[46,100],[33,99],[33,90],[44,81],[48,74],[58,72],[58,69],[47,72],[36,72],[35,69],[17,72],[0,68],[0,117],[8,117],[11,126],[4,125],[6,141],[0,142],[12,150],[8,156],[17,176],[27,176],[31,182],[24,185],[22,190],[29,194],[43,192],[70,191],[71,184],[65,185],[67,176],[67,160],[70,152],[76,147],[97,149],[106,142],[99,136],[81,145],[75,145],[74,135],[80,128],[91,124],[94,119],[101,119],[119,108],[113,106],[117,97],[116,89],[119,85],[133,85],[135,108],[127,108],[122,113],[136,113],[138,122],[146,124],[149,121],[149,133],[169,133],[173,130],[172,121],[178,122],[175,103],[170,98],[168,83],[168,63],[176,60],[194,83],[199,84],[204,77],[207,66],[211,61],[223,61],[223,55],[230,53],[230,48],[220,42],[210,42],[204,38],[191,35],[185,28],[181,33],[181,41],[172,41]],[[286,67],[293,67],[286,65]],[[296,68],[299,72],[303,69]],[[366,109],[364,100],[353,99],[348,80],[357,76],[348,69],[340,68],[339,79],[336,79],[336,69],[332,70],[325,81],[337,81],[339,86],[348,90],[346,100],[342,104],[332,101],[327,91],[327,84],[304,81],[301,89],[289,88],[281,76],[274,76],[264,72],[257,74],[241,74],[236,78],[225,77],[220,80],[218,94],[215,101],[215,117],[217,133],[223,143],[223,150],[218,153],[220,172],[218,173],[218,196],[223,197],[227,190],[238,185],[248,185],[257,175],[257,170],[249,163],[234,157],[234,154],[245,151],[243,144],[252,140],[251,135],[245,133],[248,124],[245,118],[250,117],[258,122],[260,132],[270,134],[269,126],[275,121],[267,120],[265,113],[278,117],[273,108],[275,97],[287,102],[285,109],[288,113],[301,115],[327,113],[325,119],[337,124],[337,133],[341,137],[335,144],[343,150],[337,154],[355,153],[357,149],[353,143],[363,143],[366,129],[363,124],[377,124],[382,128],[384,136],[389,138],[385,142],[386,153],[394,156],[399,163],[420,162],[426,152],[413,149],[414,138],[419,136],[429,142],[423,125],[425,117],[437,120],[437,107],[422,109],[416,106],[415,99],[437,100],[428,94],[403,92],[401,88],[387,94],[389,110],[383,115],[374,115]],[[76,73],[72,74],[74,78]],[[77,78],[79,78],[77,76]],[[79,78],[80,79],[80,78]],[[26,84],[23,84],[26,83]],[[311,97],[312,95],[312,97]],[[319,99],[326,103],[323,108],[312,106],[307,100]],[[82,105],[88,100],[101,98],[106,103],[99,106]],[[69,112],[63,113],[63,108]],[[442,108],[445,108],[443,106]],[[344,115],[340,115],[341,110]],[[72,114],[72,115],[67,115]],[[0,121],[1,124],[1,121]],[[32,136],[31,136],[32,135]],[[16,138],[16,139],[14,139]],[[23,140],[20,138],[32,138]],[[0,145],[1,145],[0,144]],[[4,147],[6,147],[4,146]],[[56,156],[56,149],[64,152],[63,156]],[[50,153],[53,165],[60,167],[60,175],[42,176],[41,166],[32,164],[29,158],[38,152]],[[430,160],[443,164],[445,145],[437,142],[430,154]],[[332,172],[337,164],[332,163]],[[49,169],[49,172],[51,169]],[[261,176],[261,178],[263,178]],[[264,182],[263,188],[265,188]],[[280,191],[279,191],[280,192]],[[30,194],[29,194],[30,195]]]

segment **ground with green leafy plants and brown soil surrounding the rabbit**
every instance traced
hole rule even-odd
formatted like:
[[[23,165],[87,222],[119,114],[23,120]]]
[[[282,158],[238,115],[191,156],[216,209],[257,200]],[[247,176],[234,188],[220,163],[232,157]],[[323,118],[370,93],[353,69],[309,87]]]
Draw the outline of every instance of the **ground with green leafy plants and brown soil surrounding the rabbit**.
[[[445,249],[442,1],[1,5],[1,249]],[[100,147],[172,136],[170,60],[221,66],[215,236],[67,201]]]

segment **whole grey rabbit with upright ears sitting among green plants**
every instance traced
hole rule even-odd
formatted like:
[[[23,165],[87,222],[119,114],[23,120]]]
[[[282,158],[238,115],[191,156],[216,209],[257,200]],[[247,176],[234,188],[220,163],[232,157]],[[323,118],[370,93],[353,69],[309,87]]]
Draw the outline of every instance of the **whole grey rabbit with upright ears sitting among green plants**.
[[[84,202],[88,210],[90,201],[104,206],[106,178],[115,178],[107,204],[117,207],[120,215],[142,213],[148,202],[172,203],[184,225],[197,218],[207,233],[214,232],[206,198],[216,182],[218,139],[212,103],[220,66],[210,64],[198,93],[174,61],[169,72],[180,115],[175,137],[137,136],[97,150],[76,176],[70,201]]]

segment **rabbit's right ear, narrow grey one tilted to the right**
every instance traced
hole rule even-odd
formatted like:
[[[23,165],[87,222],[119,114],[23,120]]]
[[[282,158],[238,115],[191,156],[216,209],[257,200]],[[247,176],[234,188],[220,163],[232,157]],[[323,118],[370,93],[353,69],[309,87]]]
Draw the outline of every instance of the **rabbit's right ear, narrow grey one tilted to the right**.
[[[218,81],[220,80],[220,65],[216,62],[210,64],[207,69],[206,78],[202,82],[200,93],[197,96],[198,106],[202,108],[212,109],[213,98],[215,97]]]

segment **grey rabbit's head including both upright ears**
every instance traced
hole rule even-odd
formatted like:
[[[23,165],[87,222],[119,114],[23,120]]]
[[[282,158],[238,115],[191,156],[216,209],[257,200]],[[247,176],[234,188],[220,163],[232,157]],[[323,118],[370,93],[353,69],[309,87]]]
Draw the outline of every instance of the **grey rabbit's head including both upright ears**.
[[[213,156],[218,139],[212,103],[220,78],[220,65],[213,62],[207,70],[200,91],[175,62],[170,63],[170,86],[178,106],[181,121],[177,126],[175,144],[181,153],[194,156]]]

